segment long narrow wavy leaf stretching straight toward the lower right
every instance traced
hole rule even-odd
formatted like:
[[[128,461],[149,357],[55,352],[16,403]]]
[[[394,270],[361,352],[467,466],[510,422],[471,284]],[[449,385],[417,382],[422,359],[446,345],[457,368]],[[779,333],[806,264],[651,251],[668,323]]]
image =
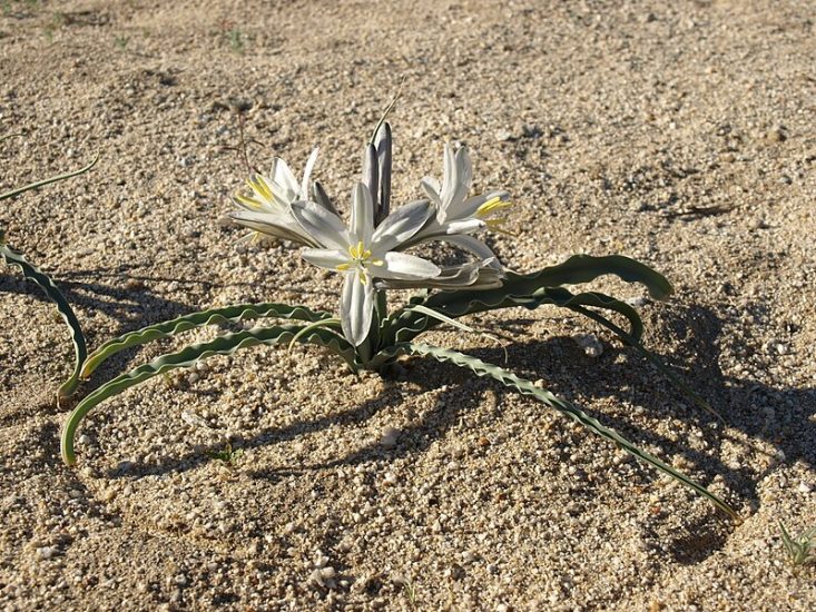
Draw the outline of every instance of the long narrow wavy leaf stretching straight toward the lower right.
[[[613,442],[617,446],[619,446],[630,455],[635,456],[636,458],[648,463],[652,467],[656,467],[657,470],[659,470],[663,474],[667,474],[680,484],[702,495],[714,505],[726,512],[731,519],[737,520],[738,517],[737,513],[727,503],[725,503],[717,495],[708,491],[708,488],[706,488],[701,484],[688,477],[682,472],[675,470],[670,465],[657,458],[655,455],[642,451],[633,443],[621,436],[615,430],[606,427],[598,419],[586,414],[578,406],[561,399],[560,397],[553,395],[544,388],[537,387],[532,382],[520,378],[512,372],[508,372],[507,369],[503,369],[497,365],[485,363],[476,357],[459,353],[458,351],[441,348],[426,344],[402,343],[392,347],[391,353],[393,354],[393,356],[396,356],[400,353],[407,353],[424,357],[433,357],[439,362],[449,362],[459,367],[465,367],[473,371],[476,376],[490,376],[491,378],[499,381],[504,386],[514,388],[523,395],[531,395],[543,404],[550,406],[551,408],[560,412],[566,416],[569,416],[577,423],[580,423],[597,435]]]

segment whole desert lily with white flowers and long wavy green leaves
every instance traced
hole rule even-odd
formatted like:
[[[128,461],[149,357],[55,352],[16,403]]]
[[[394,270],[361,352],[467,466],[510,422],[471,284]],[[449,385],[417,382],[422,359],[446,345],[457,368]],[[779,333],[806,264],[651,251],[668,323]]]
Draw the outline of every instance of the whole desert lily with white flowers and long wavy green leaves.
[[[77,461],[73,442],[82,418],[91,408],[128,387],[174,368],[190,367],[210,355],[232,355],[255,345],[292,347],[298,343],[315,344],[335,353],[355,372],[386,373],[401,356],[414,355],[494,378],[573,418],[704,495],[730,516],[736,516],[705,486],[639,448],[578,406],[498,365],[459,351],[417,342],[420,335],[444,324],[473,330],[458,320],[466,315],[519,306],[534,309],[549,304],[596,320],[662,367],[641,346],[643,326],[630,305],[598,292],[573,293],[566,285],[581,285],[612,274],[626,282],[646,285],[655,298],[665,298],[672,288],[663,276],[643,264],[617,255],[578,255],[558,266],[531,274],[505,270],[480,233],[503,230],[498,215],[510,206],[510,197],[505,191],[470,195],[472,168],[464,148],[454,151],[445,147],[442,181],[423,179],[422,188],[427,197],[392,211],[392,136],[390,126],[381,121],[365,147],[362,180],[351,193],[348,224],[343,221],[322,185],[312,181],[316,157],[315,150],[301,180],[281,159],[274,161],[268,176],[253,176],[248,188],[235,196],[239,209],[233,213],[233,218],[254,234],[302,245],[301,255],[306,261],[342,275],[338,315],[278,303],[242,304],[181,316],[105,343],[88,356],[82,377],[90,376],[105,359],[119,351],[187,329],[250,318],[281,322],[225,333],[215,339],[163,355],[91,392],[69,415],[62,432],[61,452],[68,465]],[[473,259],[460,266],[444,267],[406,253],[412,247],[434,241],[448,243],[466,251]],[[407,304],[390,313],[385,292],[406,288],[421,290]],[[628,322],[628,329],[610,320],[607,313],[622,315]],[[705,405],[701,401],[699,403]]]

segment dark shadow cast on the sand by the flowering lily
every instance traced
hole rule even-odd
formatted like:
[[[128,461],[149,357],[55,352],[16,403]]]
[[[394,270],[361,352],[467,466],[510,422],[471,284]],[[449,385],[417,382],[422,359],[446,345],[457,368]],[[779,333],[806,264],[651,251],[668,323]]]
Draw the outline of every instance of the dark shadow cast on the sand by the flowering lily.
[[[530,318],[507,319],[500,323],[505,328],[521,328]],[[517,343],[508,347],[509,367],[528,378],[543,378],[551,391],[586,408],[590,415],[598,417],[638,445],[657,446],[659,455],[677,453],[678,446],[684,457],[694,465],[702,484],[710,484],[716,475],[722,477],[729,490],[739,499],[731,499],[735,505],[758,503],[757,486],[765,476],[750,465],[734,467],[727,465],[721,457],[724,445],[746,444],[756,452],[750,441],[763,441],[774,453],[787,461],[800,461],[809,466],[816,465],[816,425],[812,419],[816,414],[816,391],[813,388],[776,388],[757,381],[738,378],[724,374],[719,365],[720,349],[718,338],[722,332],[722,319],[709,308],[692,306],[674,308],[661,313],[659,330],[679,338],[679,347],[671,355],[660,355],[669,367],[675,369],[714,405],[725,418],[728,430],[724,431],[716,417],[687,402],[682,394],[671,387],[668,382],[655,385],[659,373],[633,349],[621,346],[617,342],[604,342],[604,351],[600,357],[588,357],[571,337],[553,336],[545,340]],[[594,328],[594,324],[587,327]],[[606,338],[606,336],[604,336]],[[495,364],[502,364],[504,351],[494,346],[478,348],[470,353]],[[435,405],[426,411],[410,426],[403,427],[400,443],[392,448],[384,448],[377,442],[355,448],[343,456],[327,462],[298,464],[292,467],[275,470],[254,470],[245,472],[253,478],[277,482],[291,475],[303,475],[341,465],[357,465],[374,461],[393,461],[395,458],[416,455],[425,452],[435,441],[458,423],[462,416],[473,411],[483,401],[484,393],[490,389],[497,394],[499,404],[509,389],[492,381],[476,378],[470,372],[449,364],[430,363],[427,359],[411,359],[406,364],[404,381],[399,384],[412,385],[415,393],[442,388]],[[569,373],[593,369],[592,376],[582,376],[580,381]],[[468,393],[463,393],[470,387]],[[385,407],[396,407],[402,402],[400,393],[386,391],[377,397],[343,411],[327,414],[316,419],[302,419],[281,427],[268,427],[252,437],[233,437],[234,448],[258,448],[292,441],[335,426],[348,426],[363,423]],[[577,399],[576,399],[577,398]],[[621,404],[642,407],[648,418],[680,418],[694,424],[701,432],[704,444],[692,448],[682,442],[677,443],[666,436],[639,426],[622,414],[599,414],[592,409],[592,401],[611,398]],[[655,401],[657,399],[657,401]],[[767,412],[760,411],[774,406],[775,419],[767,418]],[[609,411],[608,411],[609,412]],[[501,418],[501,411],[494,411],[491,419]],[[645,418],[639,418],[643,422]],[[785,435],[787,428],[795,424],[797,435]],[[731,433],[737,430],[744,436]],[[745,438],[747,442],[744,442]],[[114,471],[110,477],[142,477],[161,475],[169,472],[184,472],[195,468],[208,461],[215,461],[210,454],[218,451],[216,445],[198,446],[184,456],[161,457],[157,463],[128,466],[125,473]],[[766,452],[759,450],[759,452]],[[707,534],[705,543],[699,537],[679,534],[670,543],[670,552],[678,563],[696,563],[714,553],[725,543],[727,534],[715,526],[718,520],[712,512],[710,519],[695,527],[698,533]]]

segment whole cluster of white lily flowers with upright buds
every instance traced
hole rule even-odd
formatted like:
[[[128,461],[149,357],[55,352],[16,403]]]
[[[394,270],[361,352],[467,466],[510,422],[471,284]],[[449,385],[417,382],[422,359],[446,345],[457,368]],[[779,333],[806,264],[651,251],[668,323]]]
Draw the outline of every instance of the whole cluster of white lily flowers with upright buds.
[[[302,244],[302,257],[315,266],[344,275],[340,318],[354,346],[368,336],[376,293],[394,288],[491,288],[500,286],[503,269],[488,245],[474,236],[481,229],[502,231],[494,214],[510,206],[505,191],[469,197],[473,171],[465,148],[444,149],[442,184],[422,179],[426,199],[390,211],[391,127],[383,122],[365,148],[362,180],[352,189],[346,226],[319,182],[312,181],[315,149],[303,179],[282,159],[269,176],[255,175],[249,191],[234,198],[240,210],[232,217],[255,231]],[[441,267],[405,253],[423,243],[442,240],[475,256],[460,266]]]

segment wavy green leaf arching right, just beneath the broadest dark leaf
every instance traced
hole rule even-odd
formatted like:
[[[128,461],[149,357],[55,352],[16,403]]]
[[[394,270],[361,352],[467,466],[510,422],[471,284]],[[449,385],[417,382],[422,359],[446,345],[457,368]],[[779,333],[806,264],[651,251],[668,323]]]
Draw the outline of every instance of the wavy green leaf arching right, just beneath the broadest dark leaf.
[[[542,287],[531,295],[515,296],[489,292],[461,292],[459,299],[434,300],[431,296],[420,304],[409,304],[402,310],[394,313],[384,324],[383,337],[385,346],[397,342],[410,342],[417,335],[440,324],[439,319],[430,317],[417,309],[417,306],[433,308],[448,317],[456,318],[486,310],[522,306],[533,309],[544,304],[573,308],[591,306],[603,308],[623,315],[629,322],[629,336],[639,340],[643,334],[643,323],[638,312],[619,299],[598,292],[587,292],[573,295],[563,287]]]

